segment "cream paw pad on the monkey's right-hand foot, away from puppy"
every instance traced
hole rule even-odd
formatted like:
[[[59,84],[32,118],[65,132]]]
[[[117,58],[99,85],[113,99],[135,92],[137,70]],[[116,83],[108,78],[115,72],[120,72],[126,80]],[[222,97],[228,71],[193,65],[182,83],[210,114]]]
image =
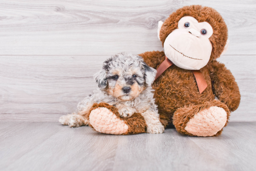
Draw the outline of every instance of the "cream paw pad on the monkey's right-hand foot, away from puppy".
[[[191,118],[185,130],[196,136],[213,136],[219,132],[227,122],[226,111],[217,106],[202,110]]]

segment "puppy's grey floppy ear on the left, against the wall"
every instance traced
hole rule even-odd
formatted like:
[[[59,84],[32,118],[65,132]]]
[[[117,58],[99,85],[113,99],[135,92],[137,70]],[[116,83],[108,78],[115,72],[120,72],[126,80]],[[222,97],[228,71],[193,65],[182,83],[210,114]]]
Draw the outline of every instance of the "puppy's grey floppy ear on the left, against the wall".
[[[96,73],[93,77],[98,83],[99,88],[105,89],[107,87],[107,71],[108,71],[108,63],[112,61],[112,58],[106,60],[103,63],[102,69]]]

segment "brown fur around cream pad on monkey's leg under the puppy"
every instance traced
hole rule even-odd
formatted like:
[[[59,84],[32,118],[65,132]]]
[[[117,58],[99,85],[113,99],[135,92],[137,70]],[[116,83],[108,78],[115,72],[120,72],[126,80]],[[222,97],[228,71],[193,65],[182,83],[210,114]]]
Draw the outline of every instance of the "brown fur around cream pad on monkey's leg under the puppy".
[[[90,109],[90,112],[88,113],[88,115],[86,116],[86,118],[89,120],[89,114],[91,113],[91,111],[95,108],[98,107],[106,107],[107,109],[109,109],[110,111],[113,112],[113,114],[115,114],[119,119],[124,120],[125,123],[128,125],[129,129],[128,132],[123,134],[123,135],[127,135],[127,134],[138,134],[138,133],[143,133],[146,132],[146,122],[143,118],[143,116],[141,114],[133,114],[131,117],[128,118],[121,118],[119,116],[118,110],[117,108],[115,108],[114,106],[111,106],[107,103],[94,103],[92,105],[92,108]],[[90,127],[92,127],[91,124],[89,124]],[[92,127],[93,128],[93,127]]]

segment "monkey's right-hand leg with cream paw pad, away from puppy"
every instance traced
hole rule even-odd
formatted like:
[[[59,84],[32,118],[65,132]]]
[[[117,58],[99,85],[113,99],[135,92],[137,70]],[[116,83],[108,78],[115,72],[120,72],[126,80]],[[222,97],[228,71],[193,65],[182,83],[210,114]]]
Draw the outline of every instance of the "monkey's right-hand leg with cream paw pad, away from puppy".
[[[176,130],[191,136],[218,136],[227,126],[230,111],[217,100],[179,108],[173,116]]]

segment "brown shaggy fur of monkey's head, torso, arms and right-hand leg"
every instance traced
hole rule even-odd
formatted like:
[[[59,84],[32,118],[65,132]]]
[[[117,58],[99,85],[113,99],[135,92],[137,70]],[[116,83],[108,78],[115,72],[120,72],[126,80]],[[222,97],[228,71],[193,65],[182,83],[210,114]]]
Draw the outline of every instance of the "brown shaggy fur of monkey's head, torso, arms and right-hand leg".
[[[219,106],[225,109],[229,116],[230,111],[236,110],[239,106],[240,92],[230,70],[224,64],[216,61],[216,58],[222,53],[228,37],[227,26],[216,10],[201,5],[185,6],[178,9],[165,20],[161,28],[162,43],[164,44],[166,37],[178,28],[178,21],[184,16],[192,16],[199,22],[206,21],[213,27],[213,35],[209,38],[213,45],[212,54],[208,64],[200,69],[208,87],[200,94],[193,73],[175,65],[166,69],[152,87],[155,89],[154,97],[164,126],[167,126],[166,123],[173,122],[178,132],[192,135],[184,128],[194,114],[211,106]],[[139,55],[144,58],[146,64],[155,69],[165,59],[164,52],[159,51],[145,52]],[[220,101],[215,100],[215,96]],[[220,135],[221,131],[216,135]]]

